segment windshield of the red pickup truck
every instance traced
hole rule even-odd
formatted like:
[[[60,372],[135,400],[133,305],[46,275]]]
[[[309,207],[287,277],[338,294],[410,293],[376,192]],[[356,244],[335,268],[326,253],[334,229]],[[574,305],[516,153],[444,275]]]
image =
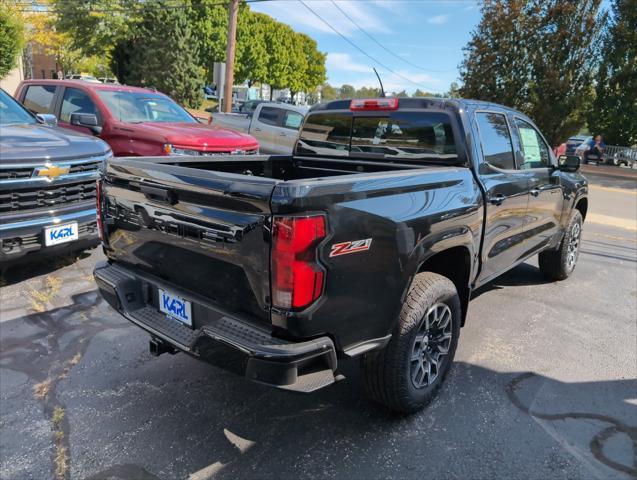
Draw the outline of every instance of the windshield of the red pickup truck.
[[[165,95],[117,90],[98,90],[97,94],[121,122],[197,122]]]

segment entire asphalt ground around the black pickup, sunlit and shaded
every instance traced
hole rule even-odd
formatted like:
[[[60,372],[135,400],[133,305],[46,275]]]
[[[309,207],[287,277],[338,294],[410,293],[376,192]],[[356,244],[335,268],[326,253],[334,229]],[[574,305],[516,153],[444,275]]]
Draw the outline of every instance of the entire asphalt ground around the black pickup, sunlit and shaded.
[[[475,292],[456,364],[411,417],[347,380],[272,390],[147,336],[96,293],[99,249],[0,289],[3,479],[637,477],[637,182],[592,177],[580,260]]]

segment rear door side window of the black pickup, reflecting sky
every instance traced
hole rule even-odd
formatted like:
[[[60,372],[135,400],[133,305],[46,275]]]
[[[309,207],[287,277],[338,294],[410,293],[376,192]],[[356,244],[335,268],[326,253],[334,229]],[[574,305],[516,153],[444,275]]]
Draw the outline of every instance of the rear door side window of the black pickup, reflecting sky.
[[[502,170],[514,170],[513,144],[506,117],[501,113],[476,113],[484,161]]]

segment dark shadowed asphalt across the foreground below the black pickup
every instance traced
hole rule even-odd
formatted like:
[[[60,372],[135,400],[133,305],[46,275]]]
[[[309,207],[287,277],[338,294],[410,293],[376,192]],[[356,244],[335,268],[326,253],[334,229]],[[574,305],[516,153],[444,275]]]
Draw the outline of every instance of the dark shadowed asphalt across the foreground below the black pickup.
[[[185,354],[152,357],[147,335],[94,291],[73,300],[3,324],[2,371],[30,379],[3,381],[3,429],[15,439],[3,465],[28,445],[22,388],[51,425],[52,456],[32,461],[59,478],[637,475],[635,379],[565,383],[458,362],[440,395],[403,417],[362,397],[355,361],[342,363],[346,381],[312,395],[274,390]],[[449,462],[450,452],[462,460]]]

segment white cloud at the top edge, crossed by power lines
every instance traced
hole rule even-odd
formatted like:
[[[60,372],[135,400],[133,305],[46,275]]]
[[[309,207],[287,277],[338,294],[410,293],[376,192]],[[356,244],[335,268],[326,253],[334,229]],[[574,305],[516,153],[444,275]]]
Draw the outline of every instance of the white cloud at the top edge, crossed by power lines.
[[[324,0],[304,1],[312,10],[343,35],[349,36],[357,32],[360,33],[356,26],[331,2]],[[382,17],[378,15],[378,9],[374,8],[373,4],[359,1],[337,1],[338,6],[366,31],[383,33],[389,31]],[[287,23],[296,30],[309,33],[319,31],[336,35],[334,30],[314,16],[314,14],[300,2],[255,2],[250,4],[250,8],[256,12],[266,13],[281,22]]]

